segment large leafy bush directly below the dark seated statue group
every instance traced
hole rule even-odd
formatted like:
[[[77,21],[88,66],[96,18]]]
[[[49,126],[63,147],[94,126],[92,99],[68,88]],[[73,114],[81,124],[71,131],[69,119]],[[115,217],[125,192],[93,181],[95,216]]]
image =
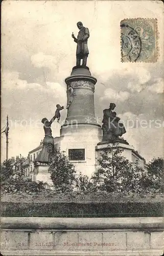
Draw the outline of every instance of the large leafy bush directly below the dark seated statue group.
[[[136,167],[122,156],[123,150],[111,143],[97,159],[99,169],[91,180],[99,191],[123,191],[136,188],[139,173]]]

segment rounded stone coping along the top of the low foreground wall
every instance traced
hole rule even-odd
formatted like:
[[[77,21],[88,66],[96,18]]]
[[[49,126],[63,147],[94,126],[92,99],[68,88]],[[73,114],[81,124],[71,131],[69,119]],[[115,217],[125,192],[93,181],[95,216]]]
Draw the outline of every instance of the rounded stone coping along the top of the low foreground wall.
[[[39,230],[163,230],[163,217],[133,218],[44,218],[2,217],[1,229]]]

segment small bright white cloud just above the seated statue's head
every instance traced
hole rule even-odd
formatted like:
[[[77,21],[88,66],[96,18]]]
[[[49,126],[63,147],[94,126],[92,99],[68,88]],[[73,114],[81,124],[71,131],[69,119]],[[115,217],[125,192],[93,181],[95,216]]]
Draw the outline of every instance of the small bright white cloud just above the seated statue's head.
[[[100,98],[100,100],[113,100],[113,101],[125,101],[129,98],[130,93],[126,91],[117,92],[111,88],[108,88],[104,91],[104,96]]]

